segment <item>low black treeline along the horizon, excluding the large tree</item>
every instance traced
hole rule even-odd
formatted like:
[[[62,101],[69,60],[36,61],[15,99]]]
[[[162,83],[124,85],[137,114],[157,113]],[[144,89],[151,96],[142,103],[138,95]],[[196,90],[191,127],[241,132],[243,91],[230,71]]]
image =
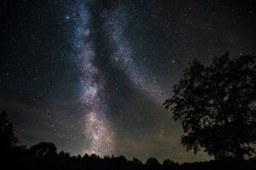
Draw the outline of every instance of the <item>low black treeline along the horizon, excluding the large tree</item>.
[[[70,156],[57,152],[53,143],[41,142],[26,148],[15,138],[12,122],[5,111],[0,114],[1,169],[96,169],[96,170],[182,170],[182,169],[253,169],[256,158],[247,161],[228,158],[221,161],[204,161],[179,164],[166,159],[160,163],[156,158],[148,158],[143,163],[137,158],[128,161],[125,156]]]

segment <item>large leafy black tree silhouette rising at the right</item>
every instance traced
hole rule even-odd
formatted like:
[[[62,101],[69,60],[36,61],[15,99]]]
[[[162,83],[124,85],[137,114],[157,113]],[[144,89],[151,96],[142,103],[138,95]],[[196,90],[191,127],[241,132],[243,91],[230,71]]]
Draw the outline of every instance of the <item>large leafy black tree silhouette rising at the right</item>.
[[[255,57],[229,54],[215,57],[212,65],[197,59],[185,69],[174,86],[172,99],[164,105],[181,120],[181,144],[195,154],[202,148],[221,159],[243,159],[254,152],[256,139],[256,66]]]

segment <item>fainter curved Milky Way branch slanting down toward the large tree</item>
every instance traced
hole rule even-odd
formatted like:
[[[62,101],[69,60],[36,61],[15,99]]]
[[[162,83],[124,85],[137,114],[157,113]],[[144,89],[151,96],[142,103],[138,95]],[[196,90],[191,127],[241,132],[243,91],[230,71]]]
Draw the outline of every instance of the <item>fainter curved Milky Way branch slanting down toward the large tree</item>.
[[[134,61],[134,52],[125,38],[123,30],[125,29],[125,14],[123,8],[115,8],[108,16],[106,29],[113,45],[113,55],[111,59],[113,64],[125,71],[127,77],[136,88],[140,88],[144,93],[154,98],[155,101],[166,99],[165,90],[159,87],[159,84],[150,78],[147,69],[137,65]]]

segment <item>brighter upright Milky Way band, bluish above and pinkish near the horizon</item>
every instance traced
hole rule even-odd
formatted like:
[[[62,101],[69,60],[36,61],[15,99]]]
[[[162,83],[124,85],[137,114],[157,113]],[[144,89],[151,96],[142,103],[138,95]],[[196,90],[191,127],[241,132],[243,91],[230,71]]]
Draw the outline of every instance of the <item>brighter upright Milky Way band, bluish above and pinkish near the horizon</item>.
[[[99,91],[104,88],[103,77],[93,64],[95,52],[93,42],[90,40],[90,14],[87,3],[77,4],[74,20],[73,46],[75,50],[76,63],[79,65],[82,76],[80,79],[80,99],[88,108],[85,113],[85,136],[90,142],[90,147],[85,149],[88,153],[97,155],[110,155],[113,153],[113,130],[107,120],[108,112]]]

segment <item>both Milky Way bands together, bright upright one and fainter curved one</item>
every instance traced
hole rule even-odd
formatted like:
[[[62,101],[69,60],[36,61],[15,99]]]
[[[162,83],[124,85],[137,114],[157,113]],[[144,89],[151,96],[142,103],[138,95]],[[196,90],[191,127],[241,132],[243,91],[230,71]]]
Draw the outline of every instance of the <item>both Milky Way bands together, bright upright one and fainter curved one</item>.
[[[86,139],[90,141],[90,148],[86,151],[100,156],[110,155],[114,150],[114,132],[107,119],[108,105],[100,94],[100,90],[104,88],[104,78],[96,65],[93,64],[96,54],[90,38],[91,18],[86,7],[86,1],[79,3],[75,10],[77,12],[73,13],[74,20],[76,20],[73,46],[76,62],[83,73],[80,77],[81,101],[89,108],[85,114],[84,133]],[[122,32],[123,17],[120,8],[113,10],[108,17],[105,18],[106,23],[103,27],[108,32],[113,46],[113,55],[111,55],[113,65],[124,71],[136,88],[142,89],[144,93],[156,101],[165,99],[164,91],[157,82],[151,80],[148,72],[140,68],[132,59],[134,54]]]

